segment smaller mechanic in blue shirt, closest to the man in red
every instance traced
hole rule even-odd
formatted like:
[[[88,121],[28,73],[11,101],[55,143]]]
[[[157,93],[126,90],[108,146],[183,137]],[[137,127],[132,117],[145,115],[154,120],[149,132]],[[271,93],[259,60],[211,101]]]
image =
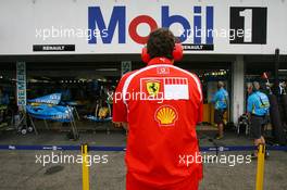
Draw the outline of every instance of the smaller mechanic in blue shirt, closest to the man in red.
[[[223,138],[223,116],[228,107],[228,92],[224,89],[224,83],[217,83],[217,91],[213,96],[211,102],[214,104],[214,123],[219,127],[217,140]]]

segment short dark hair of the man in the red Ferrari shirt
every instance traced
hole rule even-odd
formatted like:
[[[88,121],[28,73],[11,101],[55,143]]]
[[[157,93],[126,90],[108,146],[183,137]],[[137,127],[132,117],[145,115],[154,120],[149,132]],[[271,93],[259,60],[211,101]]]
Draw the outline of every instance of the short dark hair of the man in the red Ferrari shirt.
[[[149,35],[148,53],[151,59],[164,56],[173,59],[175,37],[167,28],[159,28]]]

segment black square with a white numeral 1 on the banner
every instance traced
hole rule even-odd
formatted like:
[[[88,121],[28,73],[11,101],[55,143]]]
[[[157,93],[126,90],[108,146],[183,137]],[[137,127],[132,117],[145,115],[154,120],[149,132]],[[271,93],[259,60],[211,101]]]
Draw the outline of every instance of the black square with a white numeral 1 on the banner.
[[[230,31],[230,43],[266,45],[267,8],[232,7]]]

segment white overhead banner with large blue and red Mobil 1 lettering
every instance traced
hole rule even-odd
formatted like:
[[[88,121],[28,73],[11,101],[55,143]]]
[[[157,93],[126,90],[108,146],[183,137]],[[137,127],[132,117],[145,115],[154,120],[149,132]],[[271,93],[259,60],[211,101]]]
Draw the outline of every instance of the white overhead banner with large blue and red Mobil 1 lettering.
[[[0,54],[139,53],[170,28],[194,54],[287,54],[285,0],[1,0]]]

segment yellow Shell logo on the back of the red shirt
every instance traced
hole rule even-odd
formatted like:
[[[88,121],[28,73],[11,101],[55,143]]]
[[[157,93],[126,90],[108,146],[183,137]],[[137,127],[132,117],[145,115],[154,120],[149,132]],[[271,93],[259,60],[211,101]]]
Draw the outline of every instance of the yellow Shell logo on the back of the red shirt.
[[[160,126],[172,126],[177,121],[178,113],[171,105],[162,105],[155,111],[154,117]]]

